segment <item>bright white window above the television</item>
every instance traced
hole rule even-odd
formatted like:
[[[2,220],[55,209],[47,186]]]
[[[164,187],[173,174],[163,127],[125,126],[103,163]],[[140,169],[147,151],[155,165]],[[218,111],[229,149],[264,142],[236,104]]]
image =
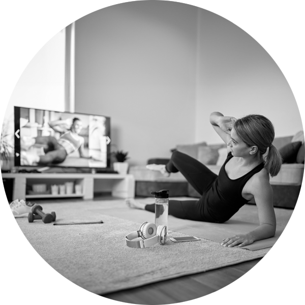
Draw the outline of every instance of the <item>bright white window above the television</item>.
[[[65,23],[0,3],[0,115],[65,110]]]

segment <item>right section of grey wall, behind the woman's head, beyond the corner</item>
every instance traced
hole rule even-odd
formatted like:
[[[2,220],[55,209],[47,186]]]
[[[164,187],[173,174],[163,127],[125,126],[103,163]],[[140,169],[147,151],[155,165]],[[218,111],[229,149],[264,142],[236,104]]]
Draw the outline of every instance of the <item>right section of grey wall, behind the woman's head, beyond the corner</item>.
[[[220,142],[212,111],[267,116],[276,136],[305,130],[305,2],[199,0],[196,141]]]

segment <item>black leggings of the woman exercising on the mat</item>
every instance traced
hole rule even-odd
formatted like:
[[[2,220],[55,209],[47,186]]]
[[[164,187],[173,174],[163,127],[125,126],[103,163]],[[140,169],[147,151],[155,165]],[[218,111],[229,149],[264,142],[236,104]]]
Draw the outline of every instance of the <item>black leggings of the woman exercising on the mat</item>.
[[[174,151],[165,168],[170,173],[179,171],[201,195],[199,200],[169,200],[168,214],[181,219],[214,222],[208,215],[204,215],[203,195],[211,187],[217,174],[198,160],[177,150]],[[155,212],[155,204],[147,204],[145,209]]]

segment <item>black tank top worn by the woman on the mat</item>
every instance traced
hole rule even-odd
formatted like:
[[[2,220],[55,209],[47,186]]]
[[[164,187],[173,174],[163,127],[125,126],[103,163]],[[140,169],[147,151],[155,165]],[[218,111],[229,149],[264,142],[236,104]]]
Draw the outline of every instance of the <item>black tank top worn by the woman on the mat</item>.
[[[229,153],[218,177],[205,194],[204,215],[214,222],[222,223],[229,220],[245,203],[250,201],[242,197],[242,189],[254,174],[264,168],[264,163],[261,163],[247,174],[237,179],[230,179],[225,166],[232,158],[232,154]]]

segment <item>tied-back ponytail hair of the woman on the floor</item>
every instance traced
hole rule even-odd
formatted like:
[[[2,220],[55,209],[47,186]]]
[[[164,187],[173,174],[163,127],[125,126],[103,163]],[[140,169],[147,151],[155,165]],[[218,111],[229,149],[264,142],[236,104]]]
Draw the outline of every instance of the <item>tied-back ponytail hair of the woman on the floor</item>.
[[[239,118],[234,123],[234,129],[239,138],[249,147],[257,146],[257,159],[264,158],[265,169],[271,177],[276,176],[281,170],[282,157],[279,150],[272,144],[275,138],[275,129],[271,121],[263,115],[250,114]]]

